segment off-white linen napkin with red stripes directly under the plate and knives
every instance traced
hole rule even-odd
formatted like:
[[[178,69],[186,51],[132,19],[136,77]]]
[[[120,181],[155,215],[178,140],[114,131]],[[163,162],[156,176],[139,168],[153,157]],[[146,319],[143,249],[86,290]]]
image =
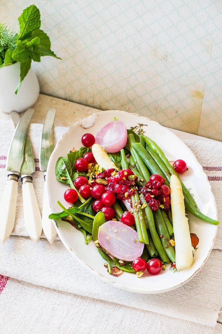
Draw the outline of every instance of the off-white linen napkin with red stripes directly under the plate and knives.
[[[30,126],[34,156],[36,158],[36,172],[34,175],[34,187],[39,206],[42,205],[43,175],[38,168],[38,151],[41,133],[41,125]],[[55,128],[55,140],[66,131],[66,128]],[[5,164],[7,149],[12,137],[13,127],[11,123],[4,122],[0,126],[0,156],[1,165]],[[198,160],[206,168],[213,191],[220,206],[221,195],[221,143],[207,143],[200,141],[186,141],[188,146],[196,154]],[[207,160],[209,152],[217,152]],[[219,157],[221,155],[221,157]],[[215,159],[214,159],[215,158]],[[202,160],[201,160],[202,159]],[[0,196],[4,190],[6,171],[0,165]],[[208,170],[210,169],[210,170]],[[218,181],[213,181],[216,178]],[[213,182],[217,182],[215,187]],[[219,186],[220,184],[220,186]],[[17,202],[17,219],[10,239],[0,248],[0,273],[21,281],[35,285],[45,286],[56,290],[70,292],[80,296],[109,301],[115,304],[130,306],[136,309],[157,312],[177,319],[189,320],[196,323],[215,326],[221,307],[222,292],[222,252],[213,250],[206,262],[204,269],[184,286],[163,294],[141,295],[119,290],[100,281],[72,258],[66,251],[60,240],[55,240],[51,245],[42,238],[35,245],[27,235],[23,225],[21,189]],[[221,211],[219,211],[219,220]],[[222,249],[221,229],[218,229],[217,240],[214,247]],[[176,275],[176,273],[175,273]]]

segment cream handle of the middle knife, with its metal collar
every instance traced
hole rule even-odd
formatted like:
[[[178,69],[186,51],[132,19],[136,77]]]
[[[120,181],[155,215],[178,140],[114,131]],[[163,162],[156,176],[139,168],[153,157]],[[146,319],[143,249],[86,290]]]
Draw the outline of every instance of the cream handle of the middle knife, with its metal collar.
[[[42,234],[42,218],[31,177],[22,178],[24,222],[30,238],[37,243]]]

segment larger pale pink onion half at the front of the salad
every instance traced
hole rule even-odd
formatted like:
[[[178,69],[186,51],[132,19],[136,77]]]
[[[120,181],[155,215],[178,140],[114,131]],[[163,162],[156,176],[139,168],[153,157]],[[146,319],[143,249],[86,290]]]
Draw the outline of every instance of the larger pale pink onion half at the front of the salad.
[[[112,257],[134,261],[143,253],[144,244],[138,241],[137,232],[120,221],[109,220],[99,227],[100,246]]]

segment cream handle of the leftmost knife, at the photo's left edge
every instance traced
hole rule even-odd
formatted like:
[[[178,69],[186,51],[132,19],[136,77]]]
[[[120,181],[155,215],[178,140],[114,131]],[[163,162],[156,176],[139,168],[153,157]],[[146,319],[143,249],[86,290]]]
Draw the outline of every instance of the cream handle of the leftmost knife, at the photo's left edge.
[[[0,243],[3,245],[10,237],[15,224],[18,176],[9,175],[1,203]]]

